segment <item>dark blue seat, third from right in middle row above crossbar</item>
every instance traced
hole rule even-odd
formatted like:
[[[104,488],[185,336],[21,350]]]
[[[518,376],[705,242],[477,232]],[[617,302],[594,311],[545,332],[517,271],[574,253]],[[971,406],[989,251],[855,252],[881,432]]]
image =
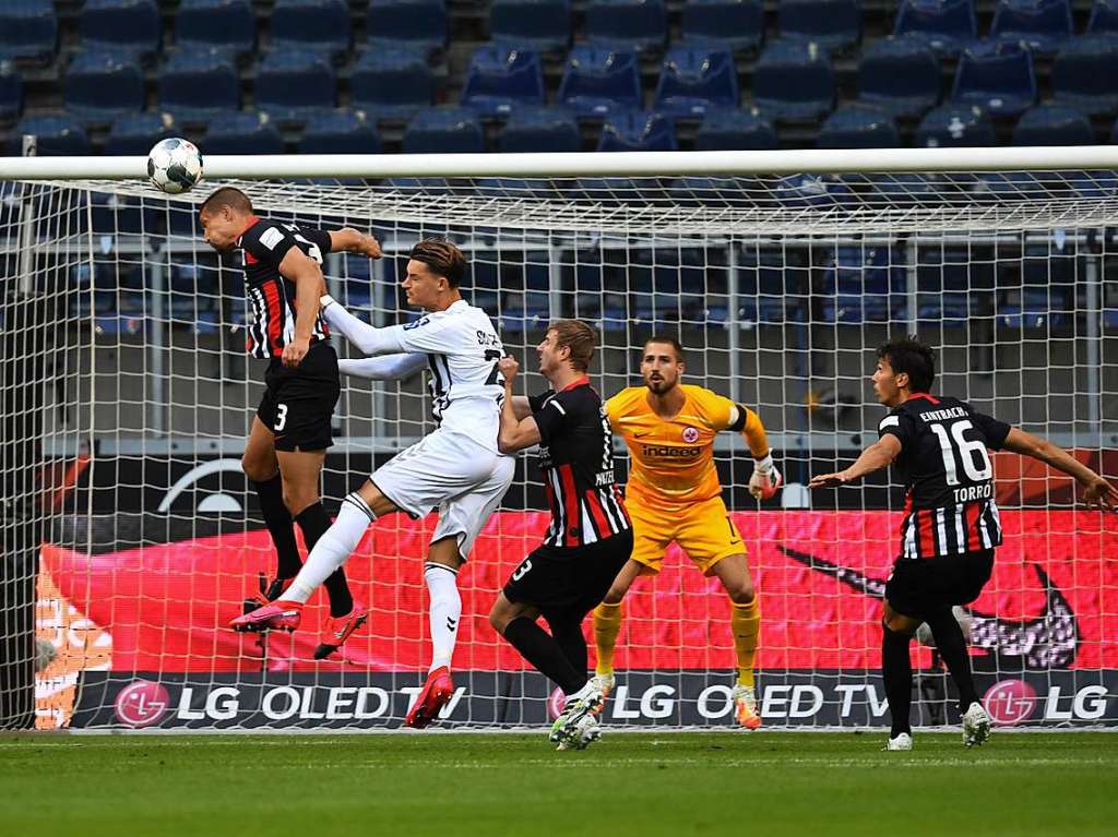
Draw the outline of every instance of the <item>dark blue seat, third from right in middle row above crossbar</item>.
[[[862,48],[859,101],[894,116],[919,116],[939,104],[939,58],[919,38],[880,38]]]

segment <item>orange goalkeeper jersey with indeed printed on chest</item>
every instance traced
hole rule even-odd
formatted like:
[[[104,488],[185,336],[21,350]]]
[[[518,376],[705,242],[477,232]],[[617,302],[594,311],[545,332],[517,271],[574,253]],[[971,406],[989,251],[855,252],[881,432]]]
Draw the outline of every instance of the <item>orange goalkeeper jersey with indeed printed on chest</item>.
[[[667,511],[722,493],[714,436],[730,427],[735,408],[733,401],[708,389],[680,386],[686,400],[670,420],[648,406],[646,387],[628,387],[606,401],[609,424],[632,457],[626,497]]]

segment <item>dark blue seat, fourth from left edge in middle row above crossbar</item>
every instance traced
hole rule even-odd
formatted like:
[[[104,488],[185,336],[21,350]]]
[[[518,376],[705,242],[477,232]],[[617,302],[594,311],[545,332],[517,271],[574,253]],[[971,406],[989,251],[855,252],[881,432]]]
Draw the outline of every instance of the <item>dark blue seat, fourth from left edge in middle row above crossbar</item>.
[[[337,98],[334,72],[316,53],[273,50],[256,70],[256,107],[273,118],[305,120],[314,111],[333,107]]]

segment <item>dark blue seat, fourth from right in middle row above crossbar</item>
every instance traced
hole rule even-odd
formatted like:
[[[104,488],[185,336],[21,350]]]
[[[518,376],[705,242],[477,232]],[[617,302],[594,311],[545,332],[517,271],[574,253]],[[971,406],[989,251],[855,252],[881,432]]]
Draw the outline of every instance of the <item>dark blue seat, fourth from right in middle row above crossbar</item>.
[[[775,120],[806,122],[831,111],[835,76],[824,50],[774,41],[754,70],[754,103]]]

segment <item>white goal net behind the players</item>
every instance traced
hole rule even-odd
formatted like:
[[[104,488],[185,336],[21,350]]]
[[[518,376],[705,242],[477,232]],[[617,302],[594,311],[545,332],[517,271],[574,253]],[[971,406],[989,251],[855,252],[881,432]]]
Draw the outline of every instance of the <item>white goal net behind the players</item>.
[[[334,657],[311,658],[321,592],[294,635],[225,627],[275,559],[239,467],[263,391],[244,352],[243,276],[196,220],[214,186],[171,198],[139,181],[0,181],[9,725],[392,729],[426,674],[434,517],[371,527],[347,572],[372,616]],[[591,378],[604,396],[638,384],[643,342],[669,333],[686,382],[757,410],[783,492],[749,496],[738,435],[719,437],[717,458],[760,593],[766,727],[888,720],[879,619],[900,487],[880,473],[805,488],[875,438],[879,344],[919,335],[937,349],[937,391],[1118,475],[1112,172],[239,186],[263,216],[377,235],[381,260],[324,265],[333,295],[375,324],[414,316],[399,293],[406,254],[446,236],[470,260],[464,295],[525,370],[549,321],[580,317],[600,337]],[[523,384],[544,388],[534,372]],[[418,379],[343,379],[331,513],[432,429],[425,392]],[[995,473],[1006,542],[959,611],[979,694],[1002,724],[1118,723],[1118,522],[1031,460],[998,454]],[[459,577],[444,726],[530,726],[555,711],[551,685],[486,619],[546,529],[543,508],[529,454]],[[718,580],[670,548],[625,600],[604,723],[730,726],[729,612]],[[915,645],[913,666],[913,720],[954,719],[934,648]]]

